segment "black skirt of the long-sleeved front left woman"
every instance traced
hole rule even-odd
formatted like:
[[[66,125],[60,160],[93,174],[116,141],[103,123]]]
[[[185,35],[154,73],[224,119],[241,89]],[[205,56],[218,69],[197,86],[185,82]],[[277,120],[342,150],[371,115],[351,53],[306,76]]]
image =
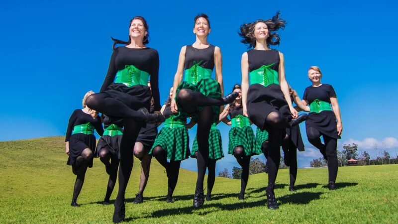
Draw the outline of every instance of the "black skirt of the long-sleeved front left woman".
[[[150,110],[151,91],[148,86],[135,85],[127,87],[121,83],[112,83],[102,93],[106,93],[109,97],[122,102],[132,110],[137,111],[140,108]]]

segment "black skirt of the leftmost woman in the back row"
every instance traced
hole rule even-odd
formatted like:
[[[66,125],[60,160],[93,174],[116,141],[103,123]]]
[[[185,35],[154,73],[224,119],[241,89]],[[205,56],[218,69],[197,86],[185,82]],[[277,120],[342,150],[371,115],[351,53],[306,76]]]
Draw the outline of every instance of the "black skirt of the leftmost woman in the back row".
[[[69,138],[69,158],[66,164],[70,166],[74,165],[76,158],[80,156],[86,148],[91,149],[92,152],[96,149],[96,137],[94,134],[72,134]],[[94,156],[89,160],[89,167],[93,167],[93,158]]]

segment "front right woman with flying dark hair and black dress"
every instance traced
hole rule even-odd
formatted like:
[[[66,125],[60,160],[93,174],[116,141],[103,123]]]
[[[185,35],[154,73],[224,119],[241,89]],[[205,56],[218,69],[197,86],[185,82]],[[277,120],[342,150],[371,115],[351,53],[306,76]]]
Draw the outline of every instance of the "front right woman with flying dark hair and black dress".
[[[285,20],[279,18],[279,14],[277,12],[272,19],[243,24],[239,33],[242,43],[249,44],[249,48],[254,47],[242,55],[243,114],[248,115],[257,128],[267,129],[269,133],[270,150],[267,157],[269,170],[266,189],[269,209],[278,208],[274,186],[281,157],[281,140],[285,128],[292,125],[285,116],[290,114],[294,118],[298,116],[289,96],[283,54],[269,48],[270,45],[279,44],[280,38],[275,31],[284,28],[286,24]],[[296,119],[293,125],[297,125],[299,121],[302,120]]]

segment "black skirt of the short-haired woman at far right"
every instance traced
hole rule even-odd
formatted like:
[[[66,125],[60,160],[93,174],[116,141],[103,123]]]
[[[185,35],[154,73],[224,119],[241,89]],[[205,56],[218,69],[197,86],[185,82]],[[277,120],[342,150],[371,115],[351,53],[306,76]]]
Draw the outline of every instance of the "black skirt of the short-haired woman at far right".
[[[305,121],[305,128],[310,127],[318,130],[322,135],[327,135],[331,138],[340,138],[337,133],[336,115],[333,112],[324,111],[324,114],[308,114],[308,119]]]

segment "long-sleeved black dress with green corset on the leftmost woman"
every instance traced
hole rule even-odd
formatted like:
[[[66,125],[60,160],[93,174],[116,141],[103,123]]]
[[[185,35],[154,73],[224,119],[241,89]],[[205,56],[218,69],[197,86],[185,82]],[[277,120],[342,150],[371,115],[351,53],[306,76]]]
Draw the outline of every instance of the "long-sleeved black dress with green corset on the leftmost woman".
[[[76,158],[84,149],[89,148],[94,152],[96,149],[96,137],[94,128],[102,135],[103,128],[100,116],[93,118],[81,109],[75,110],[69,118],[68,128],[65,134],[65,142],[69,141],[69,158],[67,165],[74,165]],[[93,158],[89,161],[89,167],[93,167]]]

